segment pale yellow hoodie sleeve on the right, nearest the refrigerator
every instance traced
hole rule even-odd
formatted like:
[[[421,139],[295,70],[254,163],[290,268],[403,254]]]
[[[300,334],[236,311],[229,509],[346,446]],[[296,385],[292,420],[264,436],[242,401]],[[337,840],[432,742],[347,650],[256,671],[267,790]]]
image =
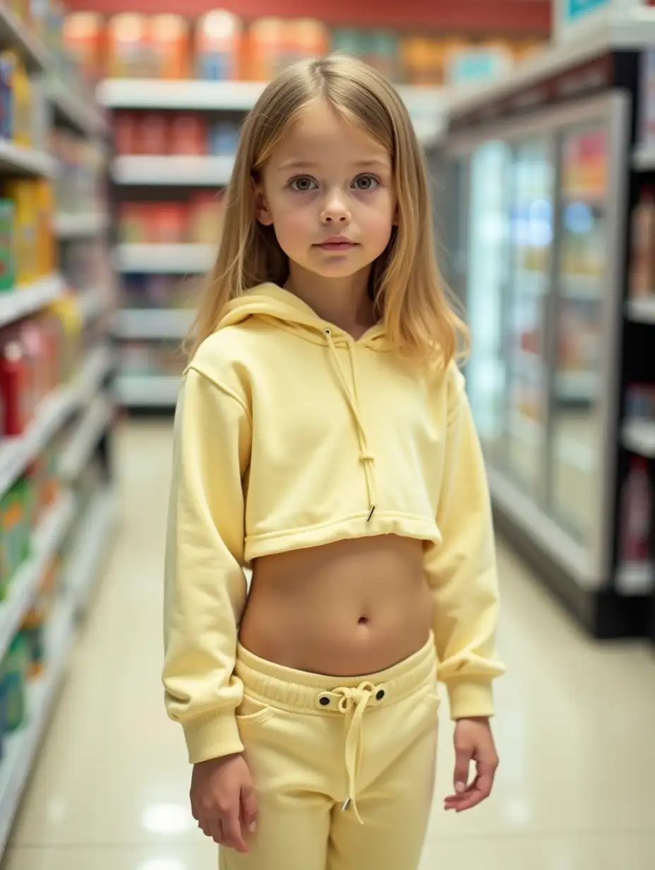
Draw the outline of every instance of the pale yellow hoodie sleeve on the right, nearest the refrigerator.
[[[465,382],[448,373],[444,482],[437,523],[442,543],[430,554],[438,679],[452,719],[491,716],[491,681],[505,672],[495,658],[498,579],[485,466]]]

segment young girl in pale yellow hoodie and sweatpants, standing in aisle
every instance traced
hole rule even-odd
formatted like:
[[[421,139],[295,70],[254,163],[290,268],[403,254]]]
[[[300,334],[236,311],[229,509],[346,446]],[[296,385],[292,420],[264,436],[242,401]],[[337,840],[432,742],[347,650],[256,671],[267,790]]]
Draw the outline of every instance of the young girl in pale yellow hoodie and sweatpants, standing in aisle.
[[[166,552],[166,702],[223,870],[417,867],[437,677],[445,806],[491,791],[491,515],[430,216],[377,72],[328,57],[266,88],[177,406]]]

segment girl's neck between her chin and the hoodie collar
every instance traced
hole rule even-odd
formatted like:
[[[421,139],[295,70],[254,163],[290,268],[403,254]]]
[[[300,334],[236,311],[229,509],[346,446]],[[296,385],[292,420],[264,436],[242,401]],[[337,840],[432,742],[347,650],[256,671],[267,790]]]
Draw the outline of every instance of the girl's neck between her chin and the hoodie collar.
[[[302,299],[317,316],[360,338],[375,324],[368,284],[371,268],[347,278],[324,278],[315,272],[289,264],[285,290]]]

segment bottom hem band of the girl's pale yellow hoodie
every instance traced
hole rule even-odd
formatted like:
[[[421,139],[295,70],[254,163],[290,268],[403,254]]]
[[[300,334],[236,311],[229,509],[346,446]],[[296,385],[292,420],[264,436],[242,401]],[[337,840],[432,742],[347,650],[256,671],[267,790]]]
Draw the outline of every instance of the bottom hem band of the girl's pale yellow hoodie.
[[[368,516],[369,513],[363,511],[304,528],[247,535],[244,559],[250,564],[252,559],[271,556],[277,552],[333,544],[335,541],[350,538],[372,538],[377,535],[398,535],[401,538],[429,541],[431,544],[441,543],[441,534],[435,523],[416,514],[376,511],[373,522],[367,521]]]

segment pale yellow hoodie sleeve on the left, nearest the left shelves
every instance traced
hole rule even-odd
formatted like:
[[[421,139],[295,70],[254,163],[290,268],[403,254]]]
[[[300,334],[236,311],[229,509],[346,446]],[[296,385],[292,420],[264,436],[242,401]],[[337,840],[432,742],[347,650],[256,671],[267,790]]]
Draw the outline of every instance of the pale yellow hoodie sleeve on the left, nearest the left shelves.
[[[243,750],[234,674],[244,611],[244,473],[250,415],[228,387],[187,370],[177,403],[164,568],[164,688],[189,760]]]

